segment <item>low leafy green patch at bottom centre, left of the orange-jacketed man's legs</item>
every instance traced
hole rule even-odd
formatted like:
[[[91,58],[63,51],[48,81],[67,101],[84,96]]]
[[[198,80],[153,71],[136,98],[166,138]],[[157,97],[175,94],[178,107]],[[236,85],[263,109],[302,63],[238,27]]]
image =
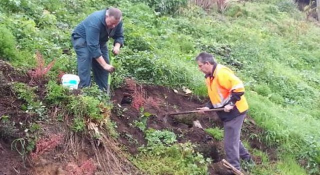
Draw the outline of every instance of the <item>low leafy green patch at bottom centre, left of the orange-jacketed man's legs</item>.
[[[148,129],[147,145],[140,147],[132,163],[148,175],[206,175],[209,160],[195,153],[191,143],[177,144],[170,131]]]

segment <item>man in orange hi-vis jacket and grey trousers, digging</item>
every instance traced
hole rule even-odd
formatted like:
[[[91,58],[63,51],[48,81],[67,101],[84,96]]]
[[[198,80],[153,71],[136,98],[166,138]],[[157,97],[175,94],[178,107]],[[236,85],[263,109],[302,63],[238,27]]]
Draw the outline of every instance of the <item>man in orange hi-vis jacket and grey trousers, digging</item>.
[[[205,74],[210,101],[205,107],[198,108],[201,113],[213,108],[224,108],[217,112],[224,127],[224,151],[227,161],[240,169],[240,158],[251,162],[250,154],[240,141],[240,131],[248,104],[244,97],[242,81],[227,67],[218,64],[213,55],[201,52],[195,58],[198,68]]]

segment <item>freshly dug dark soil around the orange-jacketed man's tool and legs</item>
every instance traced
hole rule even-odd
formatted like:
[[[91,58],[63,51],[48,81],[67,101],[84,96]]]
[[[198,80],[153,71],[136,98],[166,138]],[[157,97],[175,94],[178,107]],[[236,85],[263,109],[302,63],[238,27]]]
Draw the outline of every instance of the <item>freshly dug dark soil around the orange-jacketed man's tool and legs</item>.
[[[193,126],[193,121],[198,120],[203,128],[222,128],[223,124],[216,113],[169,116],[164,120],[169,112],[195,110],[203,106],[207,99],[201,100],[160,86],[136,85],[133,80],[128,80],[124,87],[115,90],[112,100],[115,107],[111,119],[118,126],[119,142],[126,145],[131,154],[136,154],[137,148],[146,144],[143,132],[134,127],[133,123],[138,121],[144,112],[147,112],[151,114],[146,123],[147,128],[173,131],[179,135],[179,143],[191,142],[196,146],[195,151],[213,160],[214,164],[209,167],[211,175],[226,174],[225,168],[219,163],[225,159],[223,141],[214,140],[202,129]],[[249,137],[252,132],[262,131],[249,117],[243,124],[243,130],[244,134],[241,139],[248,140],[253,148],[272,152],[258,140]]]

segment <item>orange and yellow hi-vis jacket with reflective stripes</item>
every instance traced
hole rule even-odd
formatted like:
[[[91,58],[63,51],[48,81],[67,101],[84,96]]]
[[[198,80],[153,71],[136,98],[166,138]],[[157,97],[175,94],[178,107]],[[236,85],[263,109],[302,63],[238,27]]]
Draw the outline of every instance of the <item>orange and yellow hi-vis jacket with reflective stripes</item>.
[[[222,121],[232,120],[248,110],[248,104],[243,95],[242,81],[227,67],[216,64],[211,76],[207,76],[205,83],[210,98],[210,108],[222,108],[229,102],[234,104],[230,112],[217,112]]]

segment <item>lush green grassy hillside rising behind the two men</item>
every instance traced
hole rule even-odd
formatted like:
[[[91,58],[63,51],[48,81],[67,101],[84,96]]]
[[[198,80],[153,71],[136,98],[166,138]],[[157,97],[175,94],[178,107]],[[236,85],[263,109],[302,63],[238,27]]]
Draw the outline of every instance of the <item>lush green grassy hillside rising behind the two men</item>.
[[[125,46],[112,57],[113,88],[132,77],[205,96],[194,57],[213,53],[245,83],[249,115],[265,131],[252,137],[278,148],[281,159],[269,172],[303,175],[299,164],[320,174],[320,28],[290,0],[231,3],[223,13],[215,5],[204,11],[185,0],[162,1],[1,0],[0,58],[27,70],[38,50],[46,64],[55,60],[52,80],[60,71],[76,73],[72,29],[90,12],[117,6]]]

